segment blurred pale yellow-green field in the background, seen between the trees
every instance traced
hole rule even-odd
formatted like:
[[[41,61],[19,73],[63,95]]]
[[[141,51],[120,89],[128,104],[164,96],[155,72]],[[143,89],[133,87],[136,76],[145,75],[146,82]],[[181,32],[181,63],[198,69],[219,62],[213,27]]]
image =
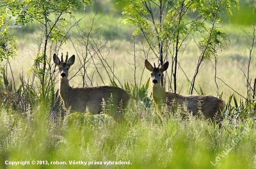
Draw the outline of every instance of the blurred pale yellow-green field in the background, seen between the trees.
[[[130,55],[133,53],[133,39],[132,34],[135,30],[135,26],[123,24],[122,21],[125,16],[121,14],[122,8],[127,4],[127,1],[118,1],[118,0],[102,0],[102,1],[92,1],[92,3],[86,6],[85,11],[85,18],[80,22],[80,27],[82,30],[88,31],[90,25],[92,25],[92,18],[94,17],[94,28],[97,29],[94,31],[94,37],[100,39],[100,41],[107,41],[108,43],[105,47],[108,48],[108,52],[102,52],[103,55],[108,55],[107,58],[109,63],[113,63],[114,60],[118,60],[118,64],[114,65],[111,64],[112,68],[115,69],[116,73],[118,73],[118,77],[121,83],[125,83],[126,81],[134,84],[134,72],[130,65],[133,63],[133,56]],[[224,50],[218,50],[218,64],[217,64],[217,77],[221,78],[222,80],[226,81],[229,86],[232,86],[239,94],[246,95],[246,81],[243,78],[242,70],[247,69],[248,62],[248,52],[249,52],[249,45],[251,43],[251,33],[253,32],[252,25],[255,21],[255,15],[253,14],[254,8],[254,1],[247,0],[247,1],[239,1],[239,7],[232,7],[232,13],[225,13],[222,15],[222,22],[219,23],[221,25],[221,30],[225,31],[228,34],[229,40],[226,42],[226,46]],[[74,12],[75,18],[79,19],[82,18],[84,13]],[[190,18],[195,18],[196,13],[189,13]],[[96,22],[95,22],[96,21]],[[10,34],[15,36],[18,40],[17,49],[18,54],[11,59],[11,62],[20,63],[18,57],[21,54],[26,53],[26,50],[29,48],[30,45],[35,45],[38,43],[38,38],[40,38],[41,33],[41,25],[37,22],[27,23],[26,26],[23,26],[20,29],[9,29]],[[65,44],[61,46],[61,52],[69,51],[69,53],[78,54],[79,48],[81,49],[81,45],[77,45],[74,42],[76,38],[74,38],[75,30],[72,29],[67,34],[67,41]],[[81,37],[80,37],[81,38]],[[188,44],[186,50],[180,56],[180,59],[186,60],[185,62],[180,62],[180,68],[178,71],[178,90],[181,94],[189,94],[189,81],[191,81],[193,77],[193,71],[196,66],[196,49],[197,46],[195,44]],[[106,49],[107,50],[107,49]],[[26,59],[26,62],[19,65],[14,64],[15,68],[13,69],[13,74],[15,78],[17,75],[23,71],[25,74],[28,69],[30,69],[31,65],[34,62],[34,55],[36,55],[36,50],[34,54],[30,54],[31,59]],[[137,54],[139,56],[141,54]],[[48,56],[49,60],[51,56]],[[80,57],[80,55],[78,55]],[[152,56],[154,59],[155,56]],[[137,57],[137,73],[135,73],[136,78],[141,78],[141,84],[147,81],[148,75],[144,75],[144,65],[143,59]],[[157,61],[153,60],[153,61]],[[255,67],[255,60],[251,60],[251,68],[254,69]],[[2,63],[4,66],[5,63]],[[214,78],[214,70],[215,70],[215,61],[210,60],[206,61],[205,66],[202,66],[198,79],[196,81],[196,88],[197,91],[199,88],[202,88],[205,94],[213,94],[216,95],[216,82]],[[125,66],[124,66],[125,65]],[[227,69],[229,68],[229,69]],[[104,70],[99,68],[102,76],[107,76]],[[95,70],[94,66],[89,66],[87,69],[88,75],[92,75]],[[193,70],[193,71],[191,71]],[[142,74],[141,74],[142,72]],[[255,77],[254,72],[251,72],[251,78]],[[187,78],[187,77],[188,78]],[[77,83],[73,85],[81,85],[82,79],[79,77],[77,78]],[[240,82],[234,81],[234,79],[240,79]],[[102,82],[99,75],[94,74],[94,84],[88,84],[89,86],[96,85],[95,81],[97,81],[97,85],[103,85],[105,82]],[[72,82],[72,81],[71,81]],[[221,81],[217,80],[219,84],[219,92],[225,91],[226,94],[223,94],[224,99],[228,99],[229,94],[233,93],[233,90],[224,85]],[[106,84],[111,84],[111,81],[107,81]],[[140,85],[141,85],[140,84]],[[183,85],[182,85],[183,84]],[[19,84],[16,84],[19,85]],[[167,87],[168,90],[171,91],[170,88]]]

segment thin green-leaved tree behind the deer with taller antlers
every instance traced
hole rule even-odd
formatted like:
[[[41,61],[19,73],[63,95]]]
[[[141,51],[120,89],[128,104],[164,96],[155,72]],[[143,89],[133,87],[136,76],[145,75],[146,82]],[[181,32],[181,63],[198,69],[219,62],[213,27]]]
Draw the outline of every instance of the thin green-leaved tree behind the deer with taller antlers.
[[[72,15],[74,11],[78,10],[81,12],[83,7],[90,3],[90,0],[29,0],[19,4],[16,4],[16,1],[4,0],[2,3],[3,5],[0,9],[0,13],[3,14],[1,17],[1,25],[3,25],[2,21],[6,16],[4,12],[6,12],[7,9],[12,10],[12,16],[15,16],[15,21],[21,22],[23,25],[34,21],[42,25],[43,36],[41,37],[41,44],[39,44],[42,48],[38,51],[39,54],[35,56],[34,68],[29,72],[33,72],[39,78],[42,93],[41,100],[44,101],[46,99],[45,85],[51,81],[47,80],[46,76],[50,77],[50,79],[53,77],[52,74],[49,75],[49,72],[46,69],[47,64],[49,65],[47,60],[47,45],[49,45],[49,41],[55,43],[59,42],[59,45],[65,42],[67,32],[65,32],[64,29],[67,27],[67,20],[64,15],[67,14],[69,15],[69,19],[74,19],[74,16]],[[13,20],[13,17],[10,20]],[[0,57],[4,58],[13,56],[14,50],[16,50],[14,44],[16,42],[15,37],[11,38],[7,33],[9,23],[10,21],[4,24],[5,29],[1,32],[0,54],[4,53],[4,55],[1,55]],[[58,46],[56,46],[56,48],[57,47]],[[2,61],[2,58],[0,59]]]

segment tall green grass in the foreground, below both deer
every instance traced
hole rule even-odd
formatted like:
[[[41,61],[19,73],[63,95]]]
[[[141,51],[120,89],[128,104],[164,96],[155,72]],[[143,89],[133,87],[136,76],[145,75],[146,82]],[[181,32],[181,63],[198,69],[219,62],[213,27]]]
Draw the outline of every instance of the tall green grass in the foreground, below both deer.
[[[42,110],[47,108],[38,106],[26,113],[0,110],[1,169],[256,168],[253,118],[229,116],[222,128],[193,116],[181,119],[178,114],[160,122],[154,105],[145,108],[136,102],[126,110],[127,124],[118,124],[106,114],[61,116],[61,112]],[[26,160],[30,165],[5,164]],[[33,160],[52,164],[33,165]],[[87,165],[70,165],[69,161]],[[109,161],[130,164],[104,165]],[[53,164],[58,162],[67,164]]]

